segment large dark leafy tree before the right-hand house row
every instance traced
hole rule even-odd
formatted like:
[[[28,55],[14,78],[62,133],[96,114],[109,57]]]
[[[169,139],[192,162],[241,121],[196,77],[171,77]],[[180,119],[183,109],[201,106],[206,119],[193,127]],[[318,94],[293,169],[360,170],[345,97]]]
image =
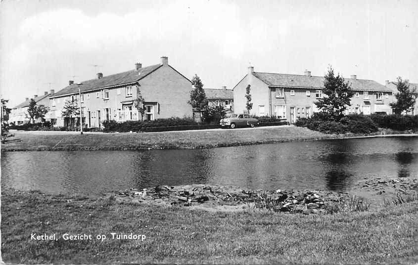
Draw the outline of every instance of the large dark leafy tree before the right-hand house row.
[[[320,112],[331,121],[340,121],[344,117],[344,112],[348,106],[351,106],[350,99],[353,91],[350,85],[345,83],[344,78],[338,73],[334,75],[334,70],[330,66],[325,75],[323,93],[325,97],[314,102],[320,109]]]

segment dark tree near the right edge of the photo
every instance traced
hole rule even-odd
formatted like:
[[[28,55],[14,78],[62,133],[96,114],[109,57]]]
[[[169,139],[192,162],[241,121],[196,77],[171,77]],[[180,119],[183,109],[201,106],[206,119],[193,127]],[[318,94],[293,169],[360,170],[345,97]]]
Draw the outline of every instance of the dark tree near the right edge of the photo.
[[[395,114],[402,114],[402,112],[409,112],[414,109],[415,105],[415,90],[411,90],[409,85],[402,81],[402,77],[398,77],[398,84],[396,85],[398,92],[395,94],[396,102],[389,105],[393,108]]]

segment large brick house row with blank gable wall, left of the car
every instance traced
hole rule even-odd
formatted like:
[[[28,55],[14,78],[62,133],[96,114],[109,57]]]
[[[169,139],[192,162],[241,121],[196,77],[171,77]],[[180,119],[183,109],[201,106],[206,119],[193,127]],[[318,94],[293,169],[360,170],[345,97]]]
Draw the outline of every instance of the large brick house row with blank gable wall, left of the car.
[[[133,70],[119,74],[103,76],[98,73],[95,79],[81,83],[83,123],[87,127],[101,127],[105,120],[141,120],[134,106],[138,91],[144,99],[144,120],[192,115],[187,103],[191,82],[168,64],[168,57],[163,56],[160,64],[147,67],[136,63]],[[79,86],[73,81],[49,97],[51,116],[55,116],[57,126],[74,122],[61,113],[65,101],[74,98],[79,98]]]

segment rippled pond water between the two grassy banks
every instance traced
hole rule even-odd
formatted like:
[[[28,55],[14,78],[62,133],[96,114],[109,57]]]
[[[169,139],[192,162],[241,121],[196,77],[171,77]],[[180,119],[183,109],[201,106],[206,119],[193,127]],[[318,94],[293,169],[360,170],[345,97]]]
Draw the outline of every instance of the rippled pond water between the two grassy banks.
[[[1,157],[3,187],[46,193],[192,183],[347,191],[371,177],[418,177],[418,137],[198,150],[3,152]]]

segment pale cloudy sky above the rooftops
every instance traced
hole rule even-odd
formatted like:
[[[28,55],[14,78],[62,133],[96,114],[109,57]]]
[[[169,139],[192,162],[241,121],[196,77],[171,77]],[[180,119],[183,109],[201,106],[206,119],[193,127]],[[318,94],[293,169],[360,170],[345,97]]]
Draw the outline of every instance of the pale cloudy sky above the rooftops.
[[[233,88],[250,65],[314,76],[331,65],[346,78],[418,83],[418,1],[0,2],[0,89],[9,107],[161,56],[204,88]]]

